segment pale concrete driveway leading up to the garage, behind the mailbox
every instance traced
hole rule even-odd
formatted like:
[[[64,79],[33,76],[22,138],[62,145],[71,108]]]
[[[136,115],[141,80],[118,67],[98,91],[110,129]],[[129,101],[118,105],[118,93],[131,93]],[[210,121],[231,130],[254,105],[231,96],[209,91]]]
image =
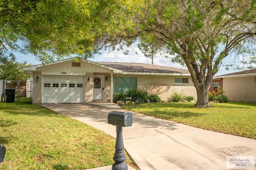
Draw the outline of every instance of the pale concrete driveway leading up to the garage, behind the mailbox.
[[[115,104],[43,104],[116,137],[107,123]],[[126,111],[124,111],[126,112]],[[124,147],[141,170],[224,170],[226,156],[255,156],[256,140],[217,133],[138,113],[123,128]],[[110,170],[111,166],[94,170]],[[129,169],[132,169],[129,167]]]

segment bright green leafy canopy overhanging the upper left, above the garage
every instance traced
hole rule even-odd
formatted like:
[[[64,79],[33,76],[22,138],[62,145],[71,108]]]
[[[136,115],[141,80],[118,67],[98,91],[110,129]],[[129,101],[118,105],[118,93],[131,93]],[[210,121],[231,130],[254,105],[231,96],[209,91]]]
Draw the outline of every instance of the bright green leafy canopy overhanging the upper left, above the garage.
[[[31,53],[47,63],[66,56],[92,57],[96,38],[122,28],[115,15],[125,0],[1,0],[1,49]],[[124,17],[125,18],[125,17]],[[18,42],[22,41],[20,45]]]

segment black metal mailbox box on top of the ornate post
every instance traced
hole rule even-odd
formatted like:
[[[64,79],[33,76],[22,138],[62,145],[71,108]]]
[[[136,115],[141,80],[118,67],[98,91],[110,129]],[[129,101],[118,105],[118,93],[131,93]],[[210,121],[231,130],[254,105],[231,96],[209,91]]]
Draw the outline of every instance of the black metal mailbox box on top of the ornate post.
[[[119,127],[132,126],[132,113],[110,111],[108,113],[108,124],[119,126]]]

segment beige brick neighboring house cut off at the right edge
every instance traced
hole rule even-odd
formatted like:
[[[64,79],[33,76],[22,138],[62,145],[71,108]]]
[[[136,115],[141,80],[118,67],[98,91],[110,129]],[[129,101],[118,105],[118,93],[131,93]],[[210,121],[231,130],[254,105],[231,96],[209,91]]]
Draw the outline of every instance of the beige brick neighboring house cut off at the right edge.
[[[222,78],[230,101],[256,103],[256,69],[216,76]]]

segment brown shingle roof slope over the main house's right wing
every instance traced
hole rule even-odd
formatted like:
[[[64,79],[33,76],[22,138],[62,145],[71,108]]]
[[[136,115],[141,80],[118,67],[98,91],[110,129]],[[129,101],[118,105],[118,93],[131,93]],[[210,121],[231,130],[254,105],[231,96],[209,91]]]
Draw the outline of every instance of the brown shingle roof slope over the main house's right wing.
[[[190,72],[185,69],[159,66],[144,63],[110,63],[110,62],[97,62],[99,64],[122,70],[126,74],[144,73],[144,74],[189,74]]]

